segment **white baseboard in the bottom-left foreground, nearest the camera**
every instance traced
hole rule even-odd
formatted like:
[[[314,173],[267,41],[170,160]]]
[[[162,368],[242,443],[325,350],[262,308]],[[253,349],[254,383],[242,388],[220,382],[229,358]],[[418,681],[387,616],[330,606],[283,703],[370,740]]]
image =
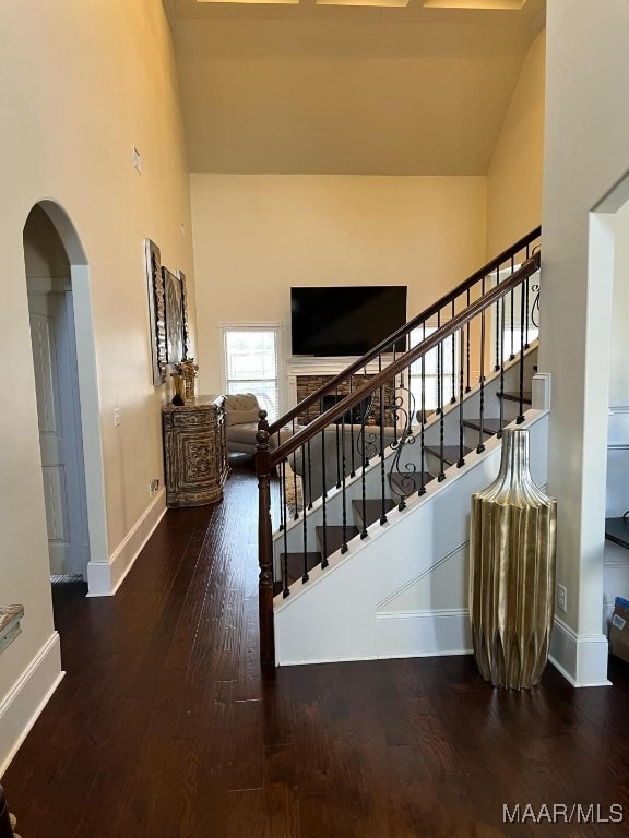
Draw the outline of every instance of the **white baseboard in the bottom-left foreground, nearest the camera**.
[[[0,704],[0,777],[64,674],[54,632]]]

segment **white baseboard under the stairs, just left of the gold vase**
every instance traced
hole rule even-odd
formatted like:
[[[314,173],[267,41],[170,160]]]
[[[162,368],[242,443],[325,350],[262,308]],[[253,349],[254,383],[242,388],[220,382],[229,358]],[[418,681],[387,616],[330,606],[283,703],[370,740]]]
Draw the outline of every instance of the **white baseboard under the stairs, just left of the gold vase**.
[[[379,658],[466,655],[472,651],[466,608],[381,612],[376,620]]]

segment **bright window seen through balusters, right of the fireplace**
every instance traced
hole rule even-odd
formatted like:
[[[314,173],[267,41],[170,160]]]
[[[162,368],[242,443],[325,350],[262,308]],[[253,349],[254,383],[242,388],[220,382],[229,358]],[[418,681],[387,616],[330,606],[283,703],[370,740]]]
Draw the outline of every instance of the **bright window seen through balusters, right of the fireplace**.
[[[414,328],[411,332],[410,348],[417,346],[426,337],[437,331],[437,326],[427,325]],[[453,394],[456,393],[458,373],[459,373],[459,342],[453,337],[447,337],[440,346],[436,346],[424,356],[424,409],[426,411],[437,410],[439,407],[439,378],[443,382],[443,393],[441,398],[442,406],[449,405]],[[442,348],[441,348],[442,347]],[[454,358],[452,348],[454,347]],[[414,412],[422,409],[422,358],[411,364],[410,388],[415,399]],[[413,407],[412,407],[413,409]]]

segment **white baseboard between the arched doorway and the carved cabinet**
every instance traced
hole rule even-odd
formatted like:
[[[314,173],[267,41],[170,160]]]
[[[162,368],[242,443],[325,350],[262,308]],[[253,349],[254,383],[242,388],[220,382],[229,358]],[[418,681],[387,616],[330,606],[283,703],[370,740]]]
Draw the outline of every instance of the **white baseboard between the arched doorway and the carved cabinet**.
[[[162,489],[111,553],[109,561],[90,562],[88,597],[111,597],[116,594],[165,514],[166,490]]]

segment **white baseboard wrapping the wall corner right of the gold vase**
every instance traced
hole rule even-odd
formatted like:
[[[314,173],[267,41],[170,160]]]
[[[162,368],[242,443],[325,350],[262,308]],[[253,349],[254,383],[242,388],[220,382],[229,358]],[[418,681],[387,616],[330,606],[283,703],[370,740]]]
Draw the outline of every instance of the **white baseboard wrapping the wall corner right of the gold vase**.
[[[608,644],[604,634],[579,636],[555,616],[548,659],[572,686],[609,686]]]

